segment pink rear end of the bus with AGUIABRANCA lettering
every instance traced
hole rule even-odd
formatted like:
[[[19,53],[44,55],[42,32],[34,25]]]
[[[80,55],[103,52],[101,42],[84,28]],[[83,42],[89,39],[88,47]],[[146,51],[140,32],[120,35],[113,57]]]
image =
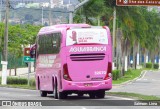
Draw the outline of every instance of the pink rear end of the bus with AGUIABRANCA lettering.
[[[104,98],[112,88],[112,46],[108,27],[70,28],[63,48],[61,91]]]

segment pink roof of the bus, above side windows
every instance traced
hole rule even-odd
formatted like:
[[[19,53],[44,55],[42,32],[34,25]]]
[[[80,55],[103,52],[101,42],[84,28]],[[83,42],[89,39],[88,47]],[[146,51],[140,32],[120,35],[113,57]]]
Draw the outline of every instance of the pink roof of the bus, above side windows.
[[[52,25],[52,26],[46,26],[40,29],[38,35],[41,34],[46,34],[46,33],[51,33],[53,31],[61,31],[62,29],[65,28],[70,28],[70,27],[91,27],[88,24],[58,24],[58,25]]]

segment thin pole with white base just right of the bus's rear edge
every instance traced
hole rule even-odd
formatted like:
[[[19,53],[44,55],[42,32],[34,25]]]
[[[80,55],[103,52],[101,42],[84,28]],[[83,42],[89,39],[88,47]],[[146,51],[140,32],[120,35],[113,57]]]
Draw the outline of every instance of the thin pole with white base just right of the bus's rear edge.
[[[115,53],[115,34],[116,33],[116,8],[114,7],[114,10],[113,10],[113,36],[112,36],[112,59],[113,59],[113,62],[112,62],[112,69],[114,70],[114,53]]]

